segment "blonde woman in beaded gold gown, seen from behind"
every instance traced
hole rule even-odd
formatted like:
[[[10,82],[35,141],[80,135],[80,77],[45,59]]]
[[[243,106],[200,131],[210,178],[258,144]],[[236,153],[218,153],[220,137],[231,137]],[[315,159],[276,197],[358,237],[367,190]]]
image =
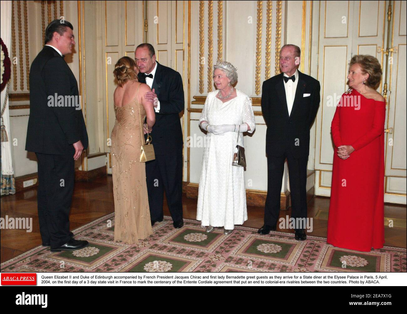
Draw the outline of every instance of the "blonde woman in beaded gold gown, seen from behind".
[[[153,103],[144,99],[151,89],[138,82],[138,68],[133,59],[127,56],[120,58],[113,73],[118,81],[113,96],[116,122],[111,136],[114,241],[135,244],[153,233],[140,146],[141,133],[144,135],[142,121],[147,115],[147,127],[151,131],[155,113]]]

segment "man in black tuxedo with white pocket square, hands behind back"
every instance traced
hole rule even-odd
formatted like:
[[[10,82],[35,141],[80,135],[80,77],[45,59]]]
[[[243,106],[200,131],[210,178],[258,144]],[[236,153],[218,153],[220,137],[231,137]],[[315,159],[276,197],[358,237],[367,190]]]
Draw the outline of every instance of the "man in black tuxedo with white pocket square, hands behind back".
[[[306,170],[309,155],[309,129],[319,107],[319,82],[297,70],[301,51],[287,44],[280,51],[281,74],[263,83],[261,109],[267,124],[267,198],[263,235],[276,230],[280,213],[280,191],[287,158],[292,218],[305,222]],[[295,239],[305,240],[303,224],[295,225]]]

